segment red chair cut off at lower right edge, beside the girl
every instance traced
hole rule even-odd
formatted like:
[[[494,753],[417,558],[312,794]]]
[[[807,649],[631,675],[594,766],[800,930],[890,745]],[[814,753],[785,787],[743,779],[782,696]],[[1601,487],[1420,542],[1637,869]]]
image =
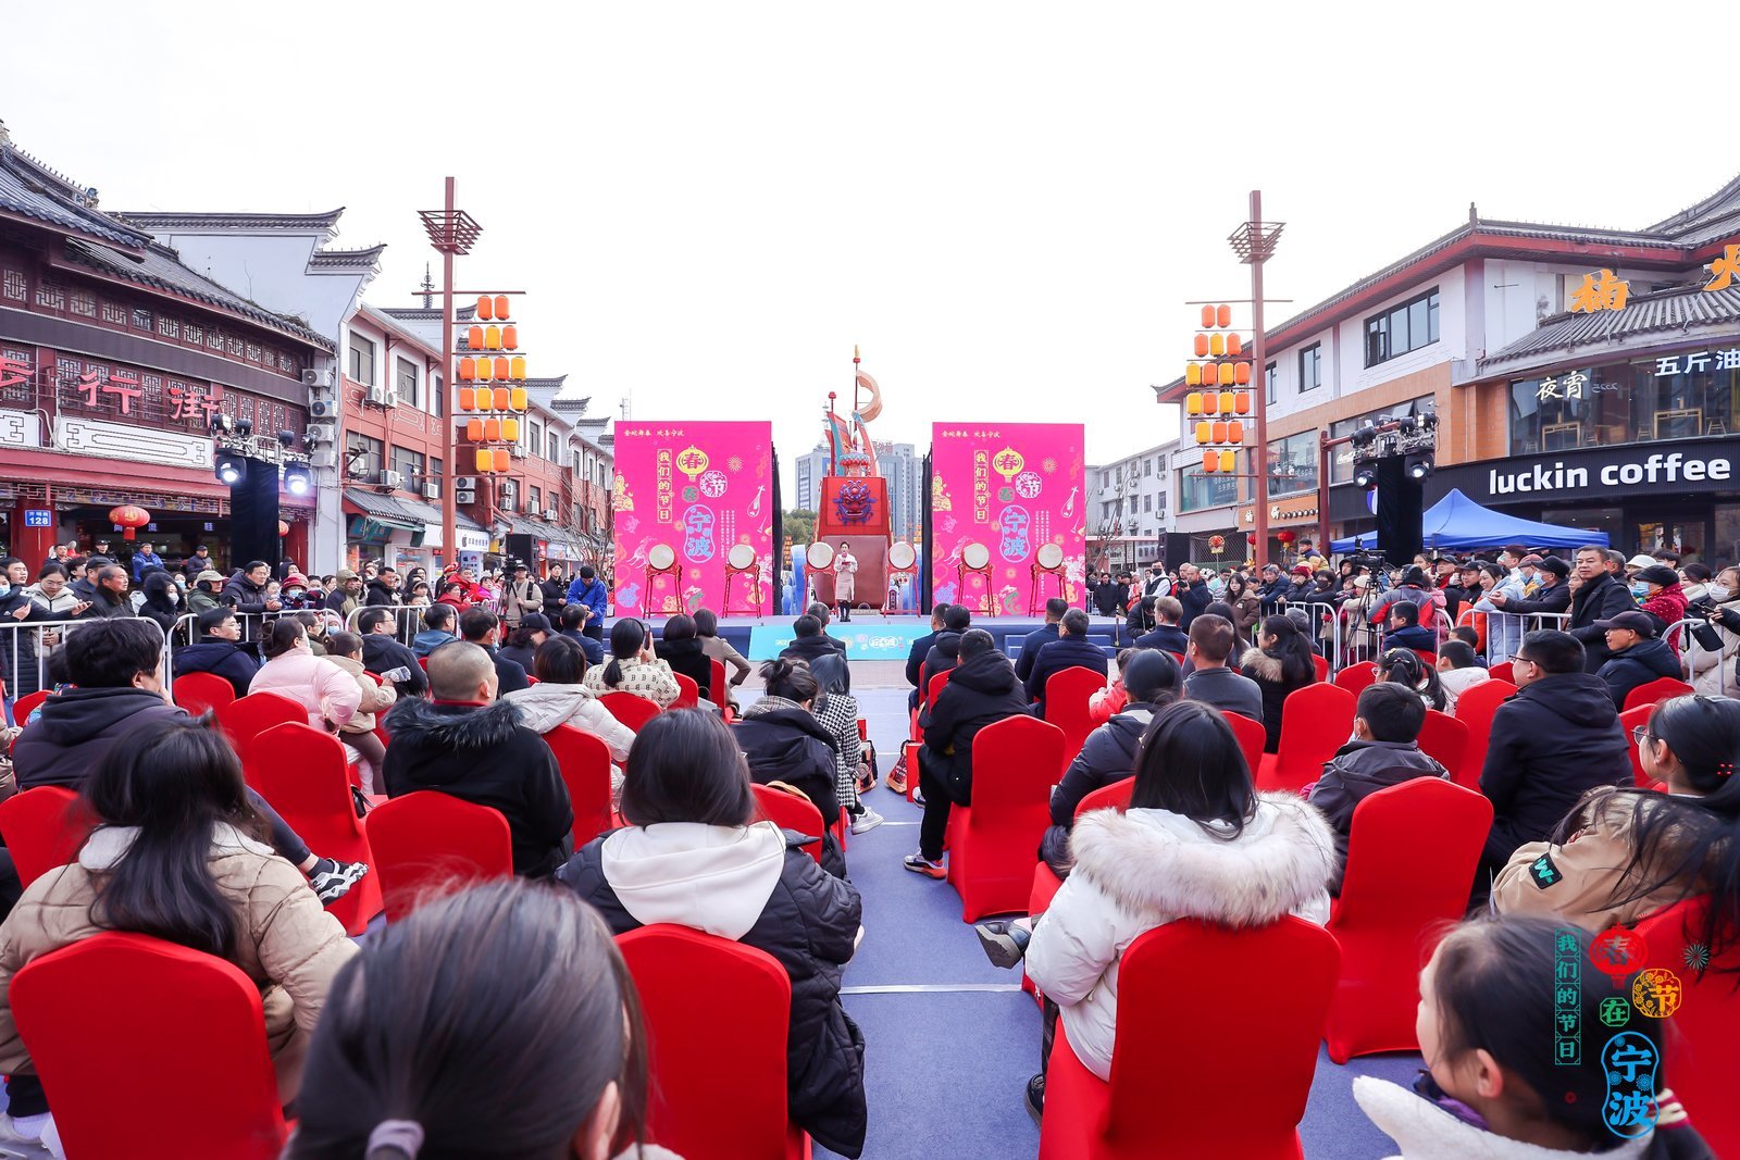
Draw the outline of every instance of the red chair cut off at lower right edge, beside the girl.
[[[1735,1052],[1735,1043],[1740,1043],[1740,1002],[1733,990],[1740,943],[1714,957],[1702,977],[1686,965],[1688,948],[1703,946],[1709,904],[1705,894],[1644,915],[1637,934],[1650,946],[1648,965],[1672,970],[1681,983],[1679,1010],[1662,1028],[1667,1082],[1710,1151],[1740,1157],[1740,1101],[1733,1097],[1740,1083],[1740,1054]]]

